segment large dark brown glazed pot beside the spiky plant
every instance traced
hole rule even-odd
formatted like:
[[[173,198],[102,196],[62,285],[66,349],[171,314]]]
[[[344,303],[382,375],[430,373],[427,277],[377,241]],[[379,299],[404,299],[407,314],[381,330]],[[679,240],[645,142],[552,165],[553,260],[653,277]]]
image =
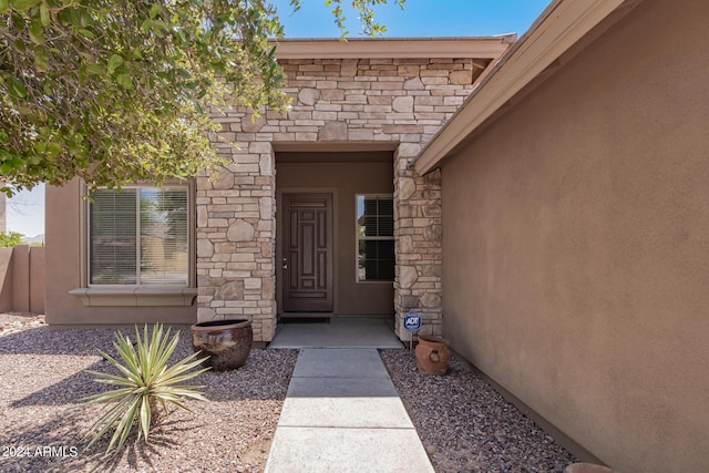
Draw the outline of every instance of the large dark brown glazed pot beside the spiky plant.
[[[248,319],[209,320],[192,326],[192,348],[208,354],[203,364],[215,371],[244,366],[253,345],[254,330]]]

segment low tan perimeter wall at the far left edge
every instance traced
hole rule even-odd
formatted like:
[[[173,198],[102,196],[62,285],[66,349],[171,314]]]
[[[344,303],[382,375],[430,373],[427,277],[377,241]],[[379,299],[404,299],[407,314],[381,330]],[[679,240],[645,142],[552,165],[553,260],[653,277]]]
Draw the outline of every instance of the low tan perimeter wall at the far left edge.
[[[0,248],[0,311],[44,313],[44,247]]]

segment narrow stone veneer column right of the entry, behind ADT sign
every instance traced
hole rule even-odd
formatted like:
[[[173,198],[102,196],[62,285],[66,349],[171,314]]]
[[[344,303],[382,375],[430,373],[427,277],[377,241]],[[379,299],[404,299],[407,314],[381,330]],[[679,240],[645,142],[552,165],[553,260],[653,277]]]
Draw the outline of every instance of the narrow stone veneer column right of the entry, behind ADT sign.
[[[441,173],[419,176],[409,169],[420,151],[418,144],[401,144],[394,154],[394,329],[402,340],[410,337],[401,323],[409,311],[422,318],[419,333],[443,333]]]

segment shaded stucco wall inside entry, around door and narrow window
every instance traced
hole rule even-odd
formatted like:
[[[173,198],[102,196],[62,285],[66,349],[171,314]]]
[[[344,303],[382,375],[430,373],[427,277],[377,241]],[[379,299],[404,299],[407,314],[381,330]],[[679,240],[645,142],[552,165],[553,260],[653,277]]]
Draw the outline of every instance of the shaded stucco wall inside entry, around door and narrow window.
[[[290,154],[290,153],[289,153]],[[335,189],[335,214],[337,229],[333,238],[336,298],[335,312],[339,315],[392,315],[392,282],[357,282],[356,249],[356,195],[357,194],[392,194],[393,164],[391,153],[383,162],[357,162],[358,156],[367,157],[367,153],[347,153],[350,162],[341,162],[343,153],[329,154],[333,162],[326,163],[284,163],[276,155],[276,188],[279,193],[289,191],[331,192]],[[381,153],[379,153],[381,154]],[[300,160],[308,160],[309,154],[290,154]],[[335,162],[338,160],[339,162]],[[278,202],[280,208],[280,202]],[[277,215],[277,225],[280,215]],[[279,248],[280,249],[280,248]],[[277,251],[280,255],[280,251]]]

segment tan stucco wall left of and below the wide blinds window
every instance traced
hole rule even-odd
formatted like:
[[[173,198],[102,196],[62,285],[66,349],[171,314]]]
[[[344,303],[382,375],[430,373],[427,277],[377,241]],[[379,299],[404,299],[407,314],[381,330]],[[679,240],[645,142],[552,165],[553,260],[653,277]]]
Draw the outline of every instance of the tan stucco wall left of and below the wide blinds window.
[[[80,214],[84,207],[78,179],[63,187],[47,188],[45,198],[45,318],[62,325],[194,323],[196,305],[181,307],[86,307],[71,290],[82,287],[82,235]]]

